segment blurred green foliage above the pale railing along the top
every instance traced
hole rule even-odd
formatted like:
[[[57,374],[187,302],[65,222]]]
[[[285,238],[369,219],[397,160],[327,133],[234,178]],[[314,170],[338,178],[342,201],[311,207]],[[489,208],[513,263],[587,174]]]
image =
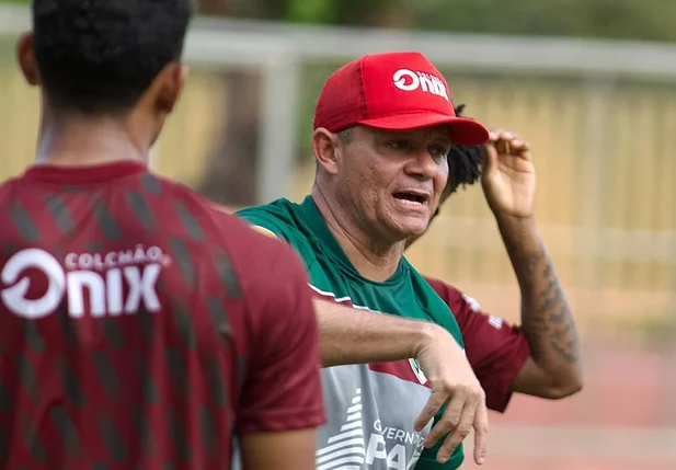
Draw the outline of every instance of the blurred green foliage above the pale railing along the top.
[[[207,14],[297,23],[676,42],[674,0],[194,1]]]

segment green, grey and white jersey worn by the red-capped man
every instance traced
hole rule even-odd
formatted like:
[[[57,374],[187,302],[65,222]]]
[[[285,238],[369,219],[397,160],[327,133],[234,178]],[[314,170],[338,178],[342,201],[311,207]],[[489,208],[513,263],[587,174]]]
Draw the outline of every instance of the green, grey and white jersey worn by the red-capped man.
[[[302,204],[278,199],[238,215],[296,249],[318,296],[358,309],[433,321],[462,346],[448,306],[405,259],[385,283],[362,277],[311,197]],[[461,446],[448,462],[437,463],[437,448],[423,448],[431,425],[420,434],[413,429],[431,393],[414,359],[329,367],[322,370],[322,385],[328,423],[319,429],[318,470],[454,470],[462,463]]]

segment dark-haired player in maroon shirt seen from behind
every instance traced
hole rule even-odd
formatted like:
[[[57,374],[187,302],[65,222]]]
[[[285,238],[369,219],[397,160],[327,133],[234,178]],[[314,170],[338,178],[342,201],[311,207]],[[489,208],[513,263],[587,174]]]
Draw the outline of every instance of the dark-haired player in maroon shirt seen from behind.
[[[294,252],[147,168],[190,0],[34,0],[36,164],[0,186],[0,468],[314,469],[319,335]]]

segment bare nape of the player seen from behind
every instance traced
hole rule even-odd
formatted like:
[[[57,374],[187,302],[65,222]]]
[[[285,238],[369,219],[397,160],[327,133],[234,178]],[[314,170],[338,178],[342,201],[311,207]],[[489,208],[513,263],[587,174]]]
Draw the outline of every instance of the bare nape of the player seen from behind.
[[[134,140],[124,118],[48,114],[41,125],[36,164],[82,167],[148,161],[150,146]]]

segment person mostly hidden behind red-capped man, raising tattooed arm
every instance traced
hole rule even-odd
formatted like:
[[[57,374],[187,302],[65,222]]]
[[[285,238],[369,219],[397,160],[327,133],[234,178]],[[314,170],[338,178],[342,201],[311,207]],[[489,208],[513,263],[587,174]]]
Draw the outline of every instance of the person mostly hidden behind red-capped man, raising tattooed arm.
[[[463,105],[456,107],[462,114]],[[534,217],[535,168],[529,147],[496,131],[493,146],[452,146],[439,207],[458,187],[479,180],[522,291],[522,325],[481,311],[479,302],[439,279],[429,285],[450,308],[489,409],[504,412],[513,392],[561,399],[582,389],[581,352],[571,308]],[[482,167],[483,172],[482,172]],[[406,248],[419,237],[406,241]]]

